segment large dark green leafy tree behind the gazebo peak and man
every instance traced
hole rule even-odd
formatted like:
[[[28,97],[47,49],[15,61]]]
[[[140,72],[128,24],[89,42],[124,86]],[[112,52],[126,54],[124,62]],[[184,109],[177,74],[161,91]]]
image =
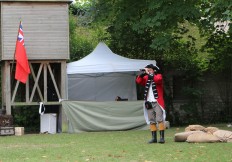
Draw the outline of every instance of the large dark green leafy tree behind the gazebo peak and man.
[[[99,0],[94,11],[96,20],[108,26],[113,51],[130,58],[156,60],[166,72],[175,69],[182,76],[187,74],[188,89],[194,94],[195,83],[208,64],[199,55],[198,38],[191,33],[201,17],[199,5],[195,0]],[[166,72],[166,98],[170,101],[171,78]],[[172,102],[167,103],[167,108],[172,107]]]

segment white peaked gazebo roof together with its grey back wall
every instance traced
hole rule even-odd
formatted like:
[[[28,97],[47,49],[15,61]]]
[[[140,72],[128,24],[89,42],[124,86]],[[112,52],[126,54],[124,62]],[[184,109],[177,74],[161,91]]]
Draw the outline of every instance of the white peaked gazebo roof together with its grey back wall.
[[[68,99],[114,101],[120,96],[136,101],[135,77],[147,64],[156,61],[122,57],[100,42],[89,55],[67,64]]]

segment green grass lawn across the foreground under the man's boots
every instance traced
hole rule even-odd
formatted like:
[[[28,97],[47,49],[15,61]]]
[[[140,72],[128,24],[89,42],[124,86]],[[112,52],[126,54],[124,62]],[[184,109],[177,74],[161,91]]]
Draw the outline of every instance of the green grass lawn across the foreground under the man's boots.
[[[147,144],[149,130],[0,136],[0,162],[232,162],[232,143],[174,142],[183,131],[167,129],[165,144]]]

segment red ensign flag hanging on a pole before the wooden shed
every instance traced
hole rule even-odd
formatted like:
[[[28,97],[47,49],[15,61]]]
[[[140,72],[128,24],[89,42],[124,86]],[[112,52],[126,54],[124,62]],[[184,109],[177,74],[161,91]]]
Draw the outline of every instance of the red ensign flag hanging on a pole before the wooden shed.
[[[26,49],[24,47],[24,35],[21,21],[19,23],[19,31],[15,47],[15,59],[15,79],[25,84],[31,71],[28,64]]]

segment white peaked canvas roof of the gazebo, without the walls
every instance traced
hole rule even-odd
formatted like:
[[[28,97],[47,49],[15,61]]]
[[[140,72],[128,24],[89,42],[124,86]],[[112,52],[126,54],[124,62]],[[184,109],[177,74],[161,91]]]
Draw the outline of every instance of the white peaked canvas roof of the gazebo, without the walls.
[[[100,42],[86,57],[67,64],[67,74],[132,72],[139,71],[147,64],[156,64],[155,60],[129,59],[113,53]]]

